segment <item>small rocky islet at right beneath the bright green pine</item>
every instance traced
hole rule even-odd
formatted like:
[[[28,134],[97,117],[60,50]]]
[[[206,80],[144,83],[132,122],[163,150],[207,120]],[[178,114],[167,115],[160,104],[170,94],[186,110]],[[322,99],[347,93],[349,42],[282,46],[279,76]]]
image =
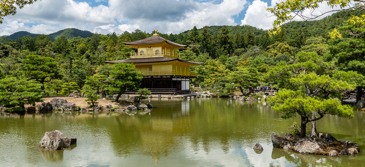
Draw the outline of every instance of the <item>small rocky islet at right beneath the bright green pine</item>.
[[[360,152],[356,143],[350,141],[336,140],[330,134],[318,134],[319,137],[294,136],[290,133],[284,137],[278,136],[275,132],[271,135],[271,141],[274,147],[290,149],[299,153],[322,154],[322,155],[353,155]]]

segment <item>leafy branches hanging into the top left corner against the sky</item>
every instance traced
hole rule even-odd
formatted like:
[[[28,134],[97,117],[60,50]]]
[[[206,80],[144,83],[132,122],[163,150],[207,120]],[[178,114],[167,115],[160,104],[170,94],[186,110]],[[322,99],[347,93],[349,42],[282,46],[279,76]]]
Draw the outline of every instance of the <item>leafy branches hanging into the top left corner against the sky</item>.
[[[6,0],[0,2],[0,24],[3,24],[3,20],[5,16],[15,15],[16,6],[19,9],[23,8],[25,5],[32,4],[37,0]]]

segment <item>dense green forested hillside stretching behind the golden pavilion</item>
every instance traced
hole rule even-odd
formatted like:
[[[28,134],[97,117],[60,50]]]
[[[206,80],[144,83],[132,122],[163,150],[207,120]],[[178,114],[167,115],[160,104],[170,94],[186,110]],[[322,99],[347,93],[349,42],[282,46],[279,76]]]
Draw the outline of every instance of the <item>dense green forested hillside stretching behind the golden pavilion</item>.
[[[332,28],[341,30],[346,26],[348,29],[346,19],[351,14],[355,14],[354,11],[338,12],[317,21],[291,22],[284,26],[285,31],[272,37],[267,31],[251,26],[205,26],[200,30],[192,27],[180,34],[159,34],[162,38],[188,45],[186,50],[175,51],[180,52],[181,59],[203,63],[191,67],[196,73],[193,84],[216,86],[220,96],[224,96],[234,91],[233,88],[246,93],[245,88],[278,84],[265,76],[278,63],[289,65],[298,60],[296,56],[301,51],[314,52],[319,59],[334,65],[333,68],[364,73],[364,38],[330,40],[328,36]],[[152,33],[137,29],[118,35],[115,32],[93,34],[86,38],[89,32],[70,28],[50,35],[26,35],[7,44],[0,43],[0,75],[35,79],[44,85],[46,95],[68,94],[82,88],[87,77],[109,77],[112,66],[104,61],[129,58],[130,52],[136,50],[126,47],[123,42],[144,39]],[[81,37],[74,37],[76,35]],[[344,33],[344,38],[348,36]],[[48,66],[38,68],[39,63]]]

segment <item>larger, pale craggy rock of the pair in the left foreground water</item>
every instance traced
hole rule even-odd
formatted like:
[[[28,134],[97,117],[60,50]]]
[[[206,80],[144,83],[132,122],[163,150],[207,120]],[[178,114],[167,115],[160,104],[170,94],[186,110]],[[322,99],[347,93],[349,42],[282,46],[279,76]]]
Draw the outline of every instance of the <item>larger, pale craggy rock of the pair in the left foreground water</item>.
[[[63,149],[65,148],[64,135],[60,131],[46,132],[38,146],[48,150]]]

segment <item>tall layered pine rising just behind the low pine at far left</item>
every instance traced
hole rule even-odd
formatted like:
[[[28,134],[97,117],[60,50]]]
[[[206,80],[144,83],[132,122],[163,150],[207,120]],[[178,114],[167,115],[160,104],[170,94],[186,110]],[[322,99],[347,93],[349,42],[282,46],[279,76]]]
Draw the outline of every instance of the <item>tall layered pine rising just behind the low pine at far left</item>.
[[[45,89],[44,82],[49,82],[51,79],[61,77],[59,74],[58,62],[54,58],[28,55],[26,59],[24,59],[24,63],[24,75],[40,82],[42,84],[42,90]]]

